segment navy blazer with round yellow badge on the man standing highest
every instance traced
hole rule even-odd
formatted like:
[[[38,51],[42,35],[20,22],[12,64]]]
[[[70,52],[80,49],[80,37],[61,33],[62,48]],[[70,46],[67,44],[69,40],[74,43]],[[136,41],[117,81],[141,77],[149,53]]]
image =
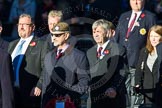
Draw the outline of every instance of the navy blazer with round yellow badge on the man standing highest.
[[[149,11],[143,10],[133,30],[130,32],[128,40],[125,41],[131,13],[132,11],[128,11],[120,16],[115,39],[126,48],[129,66],[135,68],[140,50],[145,47],[148,30],[156,24],[156,16]],[[146,32],[140,33],[142,29],[146,30]]]

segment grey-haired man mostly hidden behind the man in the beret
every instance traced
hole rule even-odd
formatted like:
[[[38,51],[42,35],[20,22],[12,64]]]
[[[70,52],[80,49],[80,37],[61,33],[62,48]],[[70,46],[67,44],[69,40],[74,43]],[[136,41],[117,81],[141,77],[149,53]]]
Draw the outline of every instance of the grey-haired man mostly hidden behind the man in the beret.
[[[63,13],[62,11],[59,10],[51,10],[48,14],[48,29],[49,29],[49,34],[46,34],[44,36],[41,37],[41,39],[46,40],[48,42],[49,48],[50,50],[52,50],[54,48],[53,45],[53,40],[52,40],[52,28],[58,24],[61,20],[63,19]],[[77,39],[73,36],[70,36],[68,39],[68,43],[70,43],[71,45],[75,46],[77,42]]]

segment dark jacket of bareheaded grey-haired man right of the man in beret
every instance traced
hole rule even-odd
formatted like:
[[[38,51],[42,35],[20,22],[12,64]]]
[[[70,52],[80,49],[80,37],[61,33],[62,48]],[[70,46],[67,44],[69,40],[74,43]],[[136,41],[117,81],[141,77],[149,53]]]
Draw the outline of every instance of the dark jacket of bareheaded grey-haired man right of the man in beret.
[[[127,75],[127,65],[124,59],[125,50],[114,42],[109,42],[105,48],[107,54],[102,59],[97,59],[97,45],[87,51],[87,57],[90,66],[91,75],[91,100],[92,103],[102,103],[102,99],[97,100],[97,97],[102,97],[107,89],[114,88],[117,91],[115,99],[104,97],[104,105],[111,104],[110,107],[120,107],[117,103],[123,102],[118,97],[125,94],[125,78]],[[110,101],[111,100],[111,101]],[[122,103],[124,104],[124,103]]]

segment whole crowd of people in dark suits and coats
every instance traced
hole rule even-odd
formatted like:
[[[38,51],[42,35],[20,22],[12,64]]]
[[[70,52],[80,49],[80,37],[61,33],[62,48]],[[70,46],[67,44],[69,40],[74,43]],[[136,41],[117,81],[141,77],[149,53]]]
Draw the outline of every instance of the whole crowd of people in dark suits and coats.
[[[84,51],[65,13],[43,1],[43,35],[36,31],[34,0],[12,4],[15,37],[0,37],[0,108],[82,108],[84,95],[86,108],[162,108],[162,25],[145,9],[147,0],[129,0],[131,10],[120,15],[117,27],[96,19],[93,45]]]

